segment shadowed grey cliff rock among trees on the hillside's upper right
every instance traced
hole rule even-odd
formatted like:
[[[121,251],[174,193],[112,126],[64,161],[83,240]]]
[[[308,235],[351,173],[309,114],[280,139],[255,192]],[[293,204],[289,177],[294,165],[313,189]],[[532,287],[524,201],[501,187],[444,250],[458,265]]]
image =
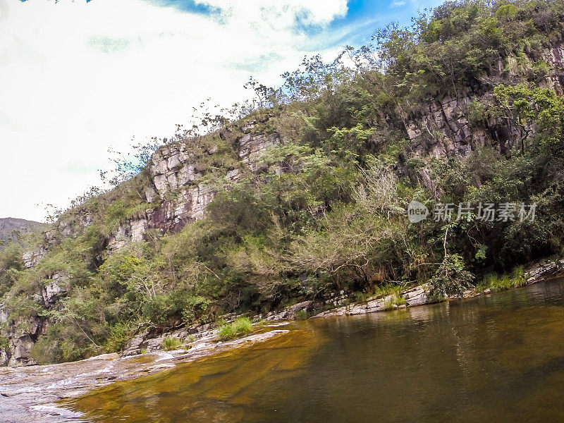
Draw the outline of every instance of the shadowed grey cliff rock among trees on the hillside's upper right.
[[[548,47],[539,58],[550,63],[553,70],[539,80],[541,87],[548,87],[557,94],[564,94],[564,42]],[[477,147],[494,144],[502,154],[513,147],[519,138],[516,128],[501,120],[489,119],[483,127],[470,124],[468,105],[473,101],[487,102],[495,83],[517,83],[522,77],[515,71],[517,61],[508,57],[500,59],[498,68],[484,78],[482,85],[467,87],[457,96],[429,99],[423,104],[423,111],[415,116],[405,116],[404,125],[410,140],[412,152],[419,157],[465,157]]]

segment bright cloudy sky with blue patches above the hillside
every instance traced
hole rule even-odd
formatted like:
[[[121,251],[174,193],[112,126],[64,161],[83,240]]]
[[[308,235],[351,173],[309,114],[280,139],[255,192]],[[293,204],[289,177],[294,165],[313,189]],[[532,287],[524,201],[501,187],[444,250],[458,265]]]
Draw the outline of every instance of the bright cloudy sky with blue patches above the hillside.
[[[0,0],[0,217],[44,221],[192,107],[281,83],[437,0]]]

